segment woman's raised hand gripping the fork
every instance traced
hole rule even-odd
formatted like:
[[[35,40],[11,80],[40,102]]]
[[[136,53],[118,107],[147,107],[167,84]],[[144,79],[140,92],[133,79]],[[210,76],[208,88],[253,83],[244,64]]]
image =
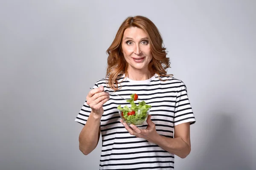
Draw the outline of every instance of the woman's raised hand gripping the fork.
[[[95,116],[101,117],[104,110],[102,105],[109,100],[109,94],[104,92],[104,87],[92,89],[86,97],[87,105],[92,109]]]

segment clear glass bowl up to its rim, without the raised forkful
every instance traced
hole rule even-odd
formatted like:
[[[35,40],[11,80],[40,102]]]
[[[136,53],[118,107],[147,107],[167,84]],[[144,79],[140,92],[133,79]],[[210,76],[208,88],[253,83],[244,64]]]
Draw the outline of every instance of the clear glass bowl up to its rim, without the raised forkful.
[[[135,125],[140,126],[143,125],[149,115],[150,108],[146,109],[135,109],[135,110],[118,110],[119,115],[121,119],[127,124],[127,125]]]

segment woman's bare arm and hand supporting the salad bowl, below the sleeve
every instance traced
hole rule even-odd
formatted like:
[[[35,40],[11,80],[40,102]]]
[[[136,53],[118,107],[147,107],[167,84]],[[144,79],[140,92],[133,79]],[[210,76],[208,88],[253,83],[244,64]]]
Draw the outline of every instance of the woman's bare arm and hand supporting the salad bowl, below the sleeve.
[[[144,138],[148,142],[152,142],[157,144],[159,147],[168,151],[169,153],[173,153],[180,158],[186,158],[189,155],[191,150],[190,145],[190,124],[182,123],[174,127],[175,134],[174,138],[168,138],[165,136],[161,136],[157,133],[154,122],[151,121],[151,115],[148,116],[147,123],[148,127],[145,130],[139,129],[134,125],[130,125],[131,128],[124,123],[122,120],[120,121],[125,129],[131,135]]]

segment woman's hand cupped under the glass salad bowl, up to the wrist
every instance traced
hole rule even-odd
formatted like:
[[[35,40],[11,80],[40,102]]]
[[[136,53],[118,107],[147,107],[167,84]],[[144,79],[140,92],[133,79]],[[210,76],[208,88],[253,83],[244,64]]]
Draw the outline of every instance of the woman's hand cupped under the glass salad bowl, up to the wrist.
[[[124,125],[125,129],[131,135],[134,135],[138,138],[144,138],[148,142],[156,143],[154,141],[157,139],[157,136],[159,136],[159,134],[157,133],[154,122],[151,121],[151,115],[148,115],[148,119],[147,119],[148,126],[146,129],[139,129],[135,125],[130,125],[129,127],[125,122],[122,121],[122,119],[120,120],[120,122],[122,123],[122,125]]]

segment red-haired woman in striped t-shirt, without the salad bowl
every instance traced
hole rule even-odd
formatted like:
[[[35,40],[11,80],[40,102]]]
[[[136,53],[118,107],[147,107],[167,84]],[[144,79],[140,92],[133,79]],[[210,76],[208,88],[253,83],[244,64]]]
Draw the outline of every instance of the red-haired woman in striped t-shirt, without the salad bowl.
[[[108,48],[108,68],[89,92],[76,121],[84,127],[79,148],[85,155],[102,135],[100,169],[172,169],[174,155],[190,153],[190,124],[195,117],[185,84],[168,75],[169,58],[157,27],[146,17],[128,17]],[[152,106],[146,125],[126,125],[117,106],[138,94]],[[121,123],[120,123],[121,122]],[[174,133],[175,131],[175,133]]]

